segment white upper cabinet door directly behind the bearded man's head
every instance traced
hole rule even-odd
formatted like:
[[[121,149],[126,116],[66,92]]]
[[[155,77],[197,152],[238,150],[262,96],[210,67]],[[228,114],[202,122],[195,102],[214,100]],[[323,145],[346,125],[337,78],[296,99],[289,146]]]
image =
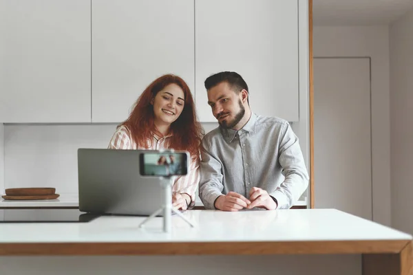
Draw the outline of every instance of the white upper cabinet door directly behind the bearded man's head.
[[[195,0],[195,102],[215,122],[204,80],[235,71],[253,112],[298,121],[297,0]]]

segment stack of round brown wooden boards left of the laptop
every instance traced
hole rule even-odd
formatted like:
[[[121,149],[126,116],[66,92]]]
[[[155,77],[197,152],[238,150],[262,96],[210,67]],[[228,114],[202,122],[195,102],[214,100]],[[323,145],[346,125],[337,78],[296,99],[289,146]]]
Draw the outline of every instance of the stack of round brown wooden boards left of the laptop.
[[[36,187],[36,188],[8,188],[3,199],[29,200],[29,199],[57,199],[56,188]]]

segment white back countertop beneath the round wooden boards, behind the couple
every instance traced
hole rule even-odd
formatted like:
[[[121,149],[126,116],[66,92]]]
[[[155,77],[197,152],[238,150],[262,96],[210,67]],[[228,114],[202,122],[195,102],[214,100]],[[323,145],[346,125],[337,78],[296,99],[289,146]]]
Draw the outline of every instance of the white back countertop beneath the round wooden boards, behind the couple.
[[[44,199],[44,200],[30,200],[30,201],[14,201],[6,200],[0,197],[0,208],[8,207],[78,207],[78,194],[60,194],[57,199]],[[199,197],[195,200],[195,206],[204,206]],[[297,201],[295,206],[307,206],[306,201]]]

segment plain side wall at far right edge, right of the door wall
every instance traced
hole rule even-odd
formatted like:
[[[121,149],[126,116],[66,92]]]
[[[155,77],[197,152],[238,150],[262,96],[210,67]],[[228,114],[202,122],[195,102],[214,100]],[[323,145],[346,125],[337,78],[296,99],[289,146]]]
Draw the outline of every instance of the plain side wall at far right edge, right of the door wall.
[[[413,10],[390,26],[392,226],[413,234]]]

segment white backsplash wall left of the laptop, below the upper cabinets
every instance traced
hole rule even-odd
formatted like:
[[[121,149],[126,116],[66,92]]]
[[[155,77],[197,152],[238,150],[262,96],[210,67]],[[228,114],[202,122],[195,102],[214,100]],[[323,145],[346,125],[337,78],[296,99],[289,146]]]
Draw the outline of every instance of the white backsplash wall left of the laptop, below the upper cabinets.
[[[77,149],[107,148],[116,124],[4,126],[4,185],[77,193]]]

